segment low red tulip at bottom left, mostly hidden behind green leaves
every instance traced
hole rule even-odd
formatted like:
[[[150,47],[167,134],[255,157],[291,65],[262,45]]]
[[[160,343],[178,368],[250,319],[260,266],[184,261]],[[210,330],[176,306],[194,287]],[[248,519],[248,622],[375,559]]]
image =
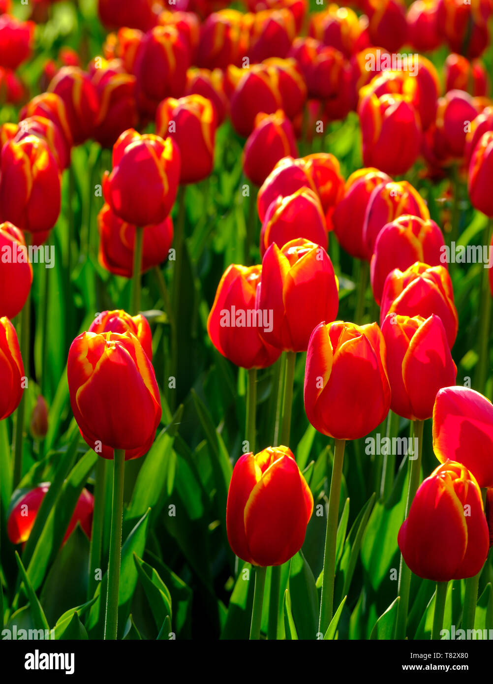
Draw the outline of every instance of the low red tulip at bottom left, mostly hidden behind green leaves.
[[[51,482],[42,482],[37,487],[26,492],[16,501],[16,505],[10,512],[7,522],[7,533],[12,544],[25,544],[34,527],[36,516]],[[92,513],[94,511],[94,497],[87,489],[83,488],[75,505],[75,510],[70,518],[62,545],[75,530],[77,523],[81,526],[85,536],[91,538]]]

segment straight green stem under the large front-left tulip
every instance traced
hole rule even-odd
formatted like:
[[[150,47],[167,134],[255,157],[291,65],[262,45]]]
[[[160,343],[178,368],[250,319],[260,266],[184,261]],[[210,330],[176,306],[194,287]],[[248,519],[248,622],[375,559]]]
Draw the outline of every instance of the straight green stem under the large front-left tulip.
[[[111,536],[109,538],[108,593],[106,597],[105,640],[116,640],[118,628],[118,589],[122,557],[123,486],[125,451],[114,450]]]

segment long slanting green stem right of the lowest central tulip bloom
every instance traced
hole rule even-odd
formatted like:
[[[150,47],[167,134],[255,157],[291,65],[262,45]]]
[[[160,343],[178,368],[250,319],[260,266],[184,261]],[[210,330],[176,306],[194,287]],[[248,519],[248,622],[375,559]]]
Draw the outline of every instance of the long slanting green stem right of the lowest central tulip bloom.
[[[323,553],[322,595],[320,601],[319,632],[325,634],[334,610],[334,579],[336,574],[336,536],[343,479],[344,439],[335,440],[334,463],[330,479],[329,510]]]

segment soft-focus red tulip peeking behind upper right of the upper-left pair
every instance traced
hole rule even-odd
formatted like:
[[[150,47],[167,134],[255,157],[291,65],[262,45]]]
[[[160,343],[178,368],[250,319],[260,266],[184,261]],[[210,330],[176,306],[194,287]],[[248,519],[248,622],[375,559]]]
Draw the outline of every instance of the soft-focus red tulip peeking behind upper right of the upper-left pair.
[[[180,150],[180,183],[197,183],[211,174],[216,125],[213,104],[202,95],[168,97],[157,108],[157,135],[171,137]]]

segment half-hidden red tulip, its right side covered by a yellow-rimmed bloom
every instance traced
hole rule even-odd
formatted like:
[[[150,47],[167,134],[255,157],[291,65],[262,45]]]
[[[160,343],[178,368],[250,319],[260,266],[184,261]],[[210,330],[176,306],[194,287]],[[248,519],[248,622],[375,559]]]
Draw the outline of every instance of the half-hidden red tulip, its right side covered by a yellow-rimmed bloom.
[[[356,259],[370,261],[372,250],[363,239],[364,217],[373,190],[392,179],[376,168],[358,169],[346,181],[343,198],[332,214],[339,244]]]

